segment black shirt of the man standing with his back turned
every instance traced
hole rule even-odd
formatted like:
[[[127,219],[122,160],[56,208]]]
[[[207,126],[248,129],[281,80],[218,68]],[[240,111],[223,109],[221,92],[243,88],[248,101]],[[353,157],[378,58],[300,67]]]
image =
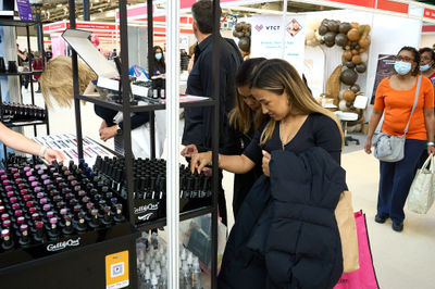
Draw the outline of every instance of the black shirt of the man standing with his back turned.
[[[234,108],[236,87],[235,75],[243,62],[240,51],[232,39],[217,37],[220,48],[220,134],[225,136],[227,115]],[[213,97],[212,36],[195,48],[195,63],[187,79],[187,95]],[[183,144],[196,144],[199,151],[211,149],[213,108],[186,108]],[[225,153],[224,140],[220,138],[221,152]]]

